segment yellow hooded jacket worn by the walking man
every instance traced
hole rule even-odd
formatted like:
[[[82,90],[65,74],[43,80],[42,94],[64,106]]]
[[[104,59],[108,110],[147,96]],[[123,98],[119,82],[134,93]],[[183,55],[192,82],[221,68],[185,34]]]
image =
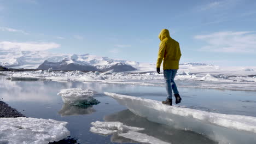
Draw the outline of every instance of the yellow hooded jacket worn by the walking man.
[[[181,58],[181,50],[178,41],[170,37],[168,29],[162,29],[158,35],[161,40],[158,52],[158,61],[156,68],[160,68],[164,59],[164,69],[179,69],[179,59]]]

